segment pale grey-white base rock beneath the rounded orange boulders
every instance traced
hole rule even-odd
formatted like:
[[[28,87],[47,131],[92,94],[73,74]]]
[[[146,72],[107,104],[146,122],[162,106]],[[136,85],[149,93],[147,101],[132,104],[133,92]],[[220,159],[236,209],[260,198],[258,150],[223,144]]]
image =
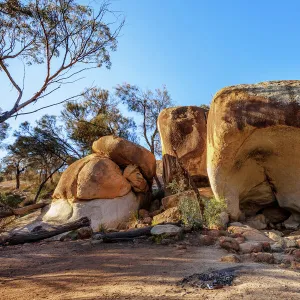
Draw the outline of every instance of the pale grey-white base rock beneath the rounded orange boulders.
[[[43,217],[44,222],[61,224],[81,217],[91,220],[91,227],[98,231],[100,226],[117,228],[137,211],[139,202],[133,192],[115,199],[95,199],[92,201],[68,201],[57,199]],[[64,213],[67,212],[67,213]]]

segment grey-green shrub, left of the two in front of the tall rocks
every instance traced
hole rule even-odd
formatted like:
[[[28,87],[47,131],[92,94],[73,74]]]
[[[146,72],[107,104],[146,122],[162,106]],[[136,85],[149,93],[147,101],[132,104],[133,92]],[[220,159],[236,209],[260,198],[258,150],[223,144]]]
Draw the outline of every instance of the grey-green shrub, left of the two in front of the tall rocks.
[[[195,229],[202,227],[200,206],[196,198],[183,197],[179,201],[178,209],[180,211],[183,224]]]

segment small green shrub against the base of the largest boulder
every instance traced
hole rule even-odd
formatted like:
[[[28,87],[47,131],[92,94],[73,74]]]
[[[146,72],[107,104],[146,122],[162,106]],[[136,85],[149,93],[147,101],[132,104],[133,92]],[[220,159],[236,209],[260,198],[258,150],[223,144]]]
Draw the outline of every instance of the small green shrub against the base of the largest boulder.
[[[204,222],[207,227],[220,226],[220,213],[226,211],[224,199],[211,198],[205,201]]]

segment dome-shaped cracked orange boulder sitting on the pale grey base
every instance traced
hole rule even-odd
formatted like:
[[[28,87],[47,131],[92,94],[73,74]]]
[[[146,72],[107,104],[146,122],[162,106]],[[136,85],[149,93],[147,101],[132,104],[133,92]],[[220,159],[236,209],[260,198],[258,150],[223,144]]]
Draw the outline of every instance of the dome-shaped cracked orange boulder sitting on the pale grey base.
[[[62,174],[54,199],[114,199],[128,194],[130,183],[108,158],[92,154],[73,164]]]

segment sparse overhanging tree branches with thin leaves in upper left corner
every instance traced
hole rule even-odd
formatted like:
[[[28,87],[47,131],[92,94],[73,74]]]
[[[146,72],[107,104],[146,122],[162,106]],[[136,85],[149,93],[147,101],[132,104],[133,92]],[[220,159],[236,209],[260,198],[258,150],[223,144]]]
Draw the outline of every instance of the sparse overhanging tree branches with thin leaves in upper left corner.
[[[110,68],[110,53],[117,48],[123,25],[109,1],[84,5],[76,0],[0,0],[0,71],[17,92],[15,99],[7,99],[11,109],[0,113],[0,123],[81,79],[79,73]],[[24,75],[32,64],[43,64],[45,75],[34,91],[23,91],[19,77],[11,73],[10,64],[20,61]]]

